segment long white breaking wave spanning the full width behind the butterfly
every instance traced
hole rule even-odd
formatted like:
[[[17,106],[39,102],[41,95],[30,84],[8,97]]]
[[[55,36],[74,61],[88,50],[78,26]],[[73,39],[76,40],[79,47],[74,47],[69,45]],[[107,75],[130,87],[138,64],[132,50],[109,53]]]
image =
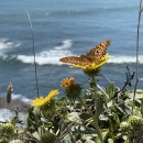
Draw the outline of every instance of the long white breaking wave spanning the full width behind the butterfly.
[[[65,57],[65,56],[75,56],[70,51],[43,51],[38,54],[35,55],[35,62],[37,65],[65,65],[65,63],[59,62],[59,58]],[[13,55],[13,56],[8,56],[8,55],[2,55],[0,56],[0,61],[20,61],[25,64],[33,64],[34,63],[34,56],[33,55]],[[136,56],[114,56],[110,55],[108,63],[110,64],[124,64],[124,63],[136,63]],[[143,55],[139,56],[139,64],[143,64]]]

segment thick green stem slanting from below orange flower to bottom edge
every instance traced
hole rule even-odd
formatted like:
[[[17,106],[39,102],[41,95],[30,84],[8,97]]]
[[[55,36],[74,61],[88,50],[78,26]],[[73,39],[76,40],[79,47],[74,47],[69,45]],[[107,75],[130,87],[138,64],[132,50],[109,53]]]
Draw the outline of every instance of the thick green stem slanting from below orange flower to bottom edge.
[[[94,120],[94,122],[95,122],[95,128],[97,129],[97,134],[98,134],[98,136],[99,136],[101,143],[103,143],[102,135],[101,135],[101,130],[100,130],[100,128],[99,128],[99,125],[98,125],[98,120],[97,120],[96,116],[92,114],[91,110],[87,107],[87,105],[82,101],[82,99],[81,99],[80,97],[78,97],[77,99],[78,99],[78,100],[80,101],[80,103],[86,108],[86,110],[91,114],[92,120]]]

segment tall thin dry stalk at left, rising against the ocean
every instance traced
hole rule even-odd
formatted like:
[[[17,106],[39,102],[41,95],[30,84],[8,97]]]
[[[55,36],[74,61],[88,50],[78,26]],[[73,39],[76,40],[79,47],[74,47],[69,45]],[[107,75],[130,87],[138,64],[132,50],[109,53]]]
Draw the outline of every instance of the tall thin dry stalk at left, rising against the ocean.
[[[34,67],[35,67],[35,81],[36,81],[37,97],[40,97],[40,95],[38,95],[38,84],[37,84],[37,76],[36,76],[36,63],[35,63],[35,43],[34,43],[33,26],[32,26],[32,22],[31,22],[31,18],[30,18],[29,11],[26,11],[26,13],[28,13],[28,16],[29,16],[30,25],[31,25],[31,34],[32,34],[32,40],[33,40]]]

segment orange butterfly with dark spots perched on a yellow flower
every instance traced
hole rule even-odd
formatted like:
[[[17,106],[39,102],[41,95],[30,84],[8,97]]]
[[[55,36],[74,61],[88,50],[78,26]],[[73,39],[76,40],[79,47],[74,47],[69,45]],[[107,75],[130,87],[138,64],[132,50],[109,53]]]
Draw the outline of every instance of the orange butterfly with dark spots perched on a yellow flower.
[[[79,66],[91,65],[94,62],[99,62],[105,55],[108,46],[111,41],[107,40],[96,45],[92,50],[90,50],[86,55],[78,56],[68,56],[63,57],[59,61],[63,63],[69,63]]]

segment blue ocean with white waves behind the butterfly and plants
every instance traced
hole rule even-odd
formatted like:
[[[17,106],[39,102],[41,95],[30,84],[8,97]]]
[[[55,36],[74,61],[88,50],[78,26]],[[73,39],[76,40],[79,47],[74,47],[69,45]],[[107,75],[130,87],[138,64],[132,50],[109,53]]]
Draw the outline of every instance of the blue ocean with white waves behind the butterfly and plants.
[[[36,97],[33,45],[29,18],[35,38],[40,95],[57,89],[61,80],[75,77],[85,82],[80,69],[70,69],[58,59],[86,54],[95,45],[111,40],[110,61],[102,74],[122,87],[127,65],[135,72],[135,46],[139,2],[134,0],[2,0],[0,3],[0,94],[11,81],[13,96]],[[143,74],[143,30],[140,30],[140,77]],[[52,77],[56,80],[55,84]],[[99,85],[108,81],[99,77]],[[133,80],[134,85],[134,80]],[[143,84],[139,85],[143,88]],[[131,87],[130,89],[133,89]],[[61,90],[61,89],[59,89]],[[63,95],[63,92],[61,92]]]

